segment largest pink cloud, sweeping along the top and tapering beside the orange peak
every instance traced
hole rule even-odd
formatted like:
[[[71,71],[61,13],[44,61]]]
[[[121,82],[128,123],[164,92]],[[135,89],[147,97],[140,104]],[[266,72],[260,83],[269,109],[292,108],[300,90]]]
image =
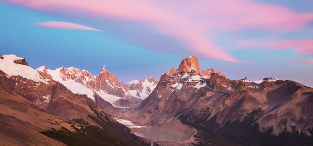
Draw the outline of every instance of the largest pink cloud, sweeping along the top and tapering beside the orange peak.
[[[296,30],[313,20],[313,13],[252,0],[7,0],[28,8],[58,12],[70,10],[90,16],[111,17],[147,23],[155,31],[184,42],[191,52],[207,58],[235,61],[223,47],[210,39],[210,31],[260,28]]]

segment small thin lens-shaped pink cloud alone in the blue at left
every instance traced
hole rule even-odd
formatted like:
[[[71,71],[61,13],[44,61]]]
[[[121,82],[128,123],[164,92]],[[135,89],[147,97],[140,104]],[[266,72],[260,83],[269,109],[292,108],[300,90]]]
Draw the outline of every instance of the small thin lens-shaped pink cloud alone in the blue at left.
[[[62,21],[36,22],[36,24],[41,26],[41,27],[46,27],[46,28],[101,31],[99,29],[91,28],[88,26],[84,26],[84,25],[80,25],[80,24],[76,24],[76,23],[70,23],[70,22],[62,22]]]

